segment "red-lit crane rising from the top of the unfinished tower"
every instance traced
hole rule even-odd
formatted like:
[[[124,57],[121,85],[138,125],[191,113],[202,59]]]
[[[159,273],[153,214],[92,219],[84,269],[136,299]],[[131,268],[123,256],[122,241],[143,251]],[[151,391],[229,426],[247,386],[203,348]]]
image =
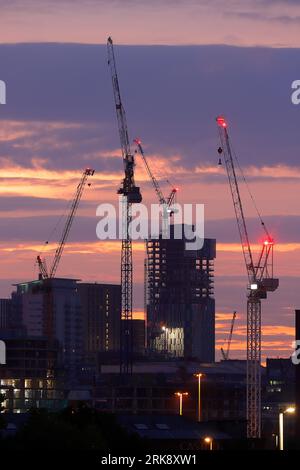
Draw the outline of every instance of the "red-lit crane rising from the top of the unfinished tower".
[[[154,174],[153,174],[153,172],[152,172],[152,170],[149,166],[149,163],[148,163],[148,160],[146,158],[144,149],[142,147],[141,140],[140,139],[134,139],[134,143],[137,145],[138,151],[139,151],[139,153],[142,157],[142,160],[145,164],[145,167],[146,167],[147,173],[149,175],[149,178],[152,181],[154,190],[157,194],[159,204],[162,207],[162,236],[163,236],[163,238],[166,238],[167,233],[168,233],[168,219],[169,219],[170,216],[172,216],[172,214],[174,212],[172,210],[172,204],[174,202],[174,199],[175,199],[175,196],[176,196],[176,193],[177,193],[177,188],[172,188],[172,190],[171,190],[171,192],[170,192],[170,194],[167,198],[163,195],[163,192],[160,188],[159,182],[157,181],[156,177],[154,176]]]

